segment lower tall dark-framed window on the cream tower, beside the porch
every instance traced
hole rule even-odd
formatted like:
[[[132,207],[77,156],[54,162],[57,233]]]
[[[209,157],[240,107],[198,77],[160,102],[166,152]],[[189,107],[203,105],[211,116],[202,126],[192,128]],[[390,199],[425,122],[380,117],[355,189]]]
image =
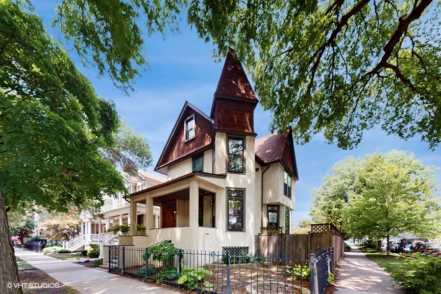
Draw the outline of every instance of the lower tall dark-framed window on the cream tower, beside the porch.
[[[245,190],[228,189],[228,231],[244,230]]]

